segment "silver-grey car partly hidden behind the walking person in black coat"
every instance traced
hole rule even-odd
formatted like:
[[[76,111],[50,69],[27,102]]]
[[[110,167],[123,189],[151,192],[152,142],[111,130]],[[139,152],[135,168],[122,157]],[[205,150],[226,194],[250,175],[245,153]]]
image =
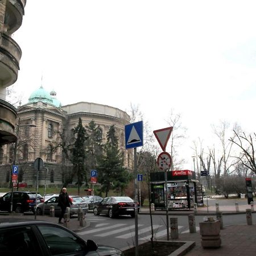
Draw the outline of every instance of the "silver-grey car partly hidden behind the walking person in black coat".
[[[51,195],[47,198],[43,203],[38,204],[36,207],[36,214],[42,215],[43,210],[44,214],[49,214],[51,206],[54,206],[55,215],[59,215],[61,213],[61,208],[58,207],[59,202],[59,194]],[[88,204],[85,203],[84,199],[81,196],[69,196],[72,201],[72,205],[70,207],[70,216],[77,214],[78,208],[82,208],[83,212],[86,214],[88,212]]]

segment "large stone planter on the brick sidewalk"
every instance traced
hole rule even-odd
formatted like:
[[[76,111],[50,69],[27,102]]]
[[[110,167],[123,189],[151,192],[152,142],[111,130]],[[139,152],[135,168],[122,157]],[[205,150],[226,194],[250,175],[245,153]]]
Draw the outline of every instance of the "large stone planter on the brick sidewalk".
[[[201,245],[203,247],[220,247],[220,221],[208,220],[199,223],[201,234]]]

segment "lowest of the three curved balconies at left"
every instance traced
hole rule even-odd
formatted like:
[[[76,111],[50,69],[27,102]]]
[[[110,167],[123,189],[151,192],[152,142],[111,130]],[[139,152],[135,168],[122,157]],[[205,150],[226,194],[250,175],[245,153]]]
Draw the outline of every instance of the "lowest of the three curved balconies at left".
[[[17,137],[14,133],[16,116],[14,106],[0,99],[0,146],[16,141]]]

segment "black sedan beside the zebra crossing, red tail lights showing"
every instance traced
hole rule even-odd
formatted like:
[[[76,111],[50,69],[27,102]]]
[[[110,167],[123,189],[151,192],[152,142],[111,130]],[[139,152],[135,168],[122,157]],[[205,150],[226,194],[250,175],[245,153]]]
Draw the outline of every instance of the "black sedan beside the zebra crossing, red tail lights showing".
[[[139,206],[138,206],[139,212]],[[135,216],[134,200],[128,196],[110,196],[105,197],[100,204],[93,208],[94,215],[106,214],[110,218],[118,215]]]

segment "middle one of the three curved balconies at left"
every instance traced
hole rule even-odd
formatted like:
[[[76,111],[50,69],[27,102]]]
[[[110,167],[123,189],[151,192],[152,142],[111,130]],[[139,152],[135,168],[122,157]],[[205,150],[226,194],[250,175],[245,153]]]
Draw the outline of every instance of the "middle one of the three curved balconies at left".
[[[14,84],[18,78],[22,51],[10,36],[0,33],[0,40],[0,86],[5,88]]]

